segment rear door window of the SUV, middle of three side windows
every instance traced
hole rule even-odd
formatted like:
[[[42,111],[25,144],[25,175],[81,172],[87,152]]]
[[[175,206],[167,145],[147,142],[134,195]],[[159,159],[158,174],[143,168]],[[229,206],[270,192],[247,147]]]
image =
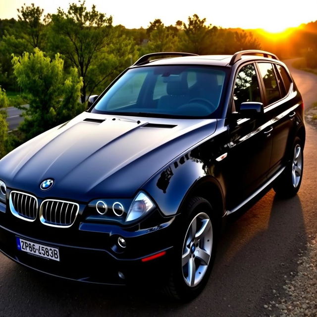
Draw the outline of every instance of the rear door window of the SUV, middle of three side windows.
[[[274,68],[271,63],[258,63],[258,66],[264,82],[267,105],[270,105],[281,98]]]

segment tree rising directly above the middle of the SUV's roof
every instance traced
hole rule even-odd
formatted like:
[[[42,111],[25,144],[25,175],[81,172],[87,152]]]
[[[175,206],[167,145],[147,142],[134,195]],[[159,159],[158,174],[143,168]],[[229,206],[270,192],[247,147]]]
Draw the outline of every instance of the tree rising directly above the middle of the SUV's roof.
[[[179,21],[176,23],[179,27]],[[200,19],[197,14],[188,17],[188,23],[183,22],[183,30],[179,32],[179,50],[188,53],[211,53],[213,34],[216,27],[206,25],[206,18]]]

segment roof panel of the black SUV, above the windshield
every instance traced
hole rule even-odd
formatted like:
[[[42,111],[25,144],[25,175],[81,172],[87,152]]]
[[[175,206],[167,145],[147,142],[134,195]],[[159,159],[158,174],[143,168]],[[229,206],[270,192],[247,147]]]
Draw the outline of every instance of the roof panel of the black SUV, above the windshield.
[[[181,57],[165,57],[159,59],[149,60],[146,63],[141,63],[138,65],[133,65],[135,67],[138,66],[155,66],[155,65],[212,65],[212,66],[232,66],[230,61],[232,60],[234,55],[192,55],[192,56],[181,56]],[[246,60],[265,60],[272,61],[272,58],[264,57],[260,55],[241,55],[240,59],[234,62],[241,63]],[[274,59],[277,61],[278,59]]]

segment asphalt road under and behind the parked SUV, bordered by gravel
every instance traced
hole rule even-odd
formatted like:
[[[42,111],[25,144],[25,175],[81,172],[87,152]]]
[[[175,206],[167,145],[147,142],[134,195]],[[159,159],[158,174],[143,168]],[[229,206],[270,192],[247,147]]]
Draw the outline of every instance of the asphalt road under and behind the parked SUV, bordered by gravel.
[[[317,101],[317,76],[291,71],[305,107],[310,106]],[[268,316],[264,304],[274,300],[272,290],[283,294],[284,276],[296,271],[299,250],[317,232],[317,131],[311,126],[307,126],[304,154],[298,195],[280,200],[270,191],[238,220],[228,223],[209,283],[191,303],[174,303],[149,289],[53,279],[0,255],[0,316]]]

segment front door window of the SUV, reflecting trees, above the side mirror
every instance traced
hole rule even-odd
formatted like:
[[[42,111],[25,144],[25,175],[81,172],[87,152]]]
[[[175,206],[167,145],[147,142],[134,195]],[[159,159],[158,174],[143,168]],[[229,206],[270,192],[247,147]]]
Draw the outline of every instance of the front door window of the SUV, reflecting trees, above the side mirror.
[[[261,102],[260,85],[253,64],[242,67],[237,75],[233,100],[236,108],[244,102]]]

